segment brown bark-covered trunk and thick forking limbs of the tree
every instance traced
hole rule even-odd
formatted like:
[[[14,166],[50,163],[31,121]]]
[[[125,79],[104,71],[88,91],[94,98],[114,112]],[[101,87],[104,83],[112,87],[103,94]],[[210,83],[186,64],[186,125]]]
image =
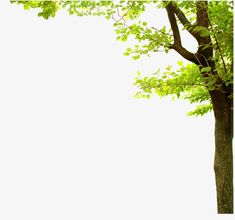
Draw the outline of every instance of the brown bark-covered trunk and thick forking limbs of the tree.
[[[201,36],[200,32],[195,31],[196,27],[209,28],[208,3],[207,1],[198,1],[196,3],[197,22],[195,25],[189,22],[174,1],[167,4],[166,11],[174,38],[171,49],[174,49],[182,57],[198,65],[200,69],[208,66],[211,67],[210,73],[217,78],[216,89],[209,91],[215,116],[214,171],[217,191],[217,211],[220,214],[233,213],[233,102],[229,98],[233,92],[232,86],[225,86],[218,75],[213,59],[213,47],[209,46],[206,49],[203,47],[205,45],[212,45],[211,36]],[[196,53],[193,54],[182,46],[176,17],[197,40],[198,50]],[[202,76],[208,77],[206,73],[203,73]]]

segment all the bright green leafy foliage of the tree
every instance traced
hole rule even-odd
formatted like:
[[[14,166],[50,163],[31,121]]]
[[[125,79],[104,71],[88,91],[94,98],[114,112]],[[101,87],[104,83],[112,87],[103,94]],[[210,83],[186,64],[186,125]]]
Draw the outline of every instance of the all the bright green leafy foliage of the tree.
[[[156,29],[141,18],[149,7],[165,8],[169,1],[11,1],[22,4],[24,9],[39,8],[38,16],[45,19],[54,17],[59,8],[63,8],[71,15],[103,16],[113,20],[116,40],[127,41],[134,38],[136,43],[124,52],[134,60],[141,56],[150,56],[158,51],[170,50],[173,44],[171,30],[166,27]],[[203,115],[212,110],[209,92],[221,90],[233,85],[233,2],[209,1],[209,28],[197,25],[197,1],[174,1],[193,24],[184,25],[183,29],[191,29],[201,37],[212,39],[212,45],[200,45],[200,49],[213,48],[213,57],[217,74],[208,64],[200,68],[195,64],[178,62],[179,69],[173,71],[167,67],[165,71],[141,77],[138,73],[134,85],[139,89],[137,98],[150,98],[152,94],[159,96],[171,95],[190,103],[199,103],[195,110],[188,115]],[[157,10],[156,10],[157,13]],[[232,95],[231,95],[232,98]]]

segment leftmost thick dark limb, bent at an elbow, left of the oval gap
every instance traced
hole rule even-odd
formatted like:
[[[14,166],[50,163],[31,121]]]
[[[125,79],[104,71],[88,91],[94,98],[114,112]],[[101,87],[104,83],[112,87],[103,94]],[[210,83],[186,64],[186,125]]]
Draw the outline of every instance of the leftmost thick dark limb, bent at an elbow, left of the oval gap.
[[[179,27],[175,18],[172,2],[170,2],[166,6],[166,11],[167,11],[168,19],[170,21],[171,29],[173,32],[173,38],[174,38],[174,44],[171,46],[171,49],[176,50],[185,59],[199,65],[200,63],[198,62],[198,59],[195,56],[195,54],[189,52],[182,46]]]

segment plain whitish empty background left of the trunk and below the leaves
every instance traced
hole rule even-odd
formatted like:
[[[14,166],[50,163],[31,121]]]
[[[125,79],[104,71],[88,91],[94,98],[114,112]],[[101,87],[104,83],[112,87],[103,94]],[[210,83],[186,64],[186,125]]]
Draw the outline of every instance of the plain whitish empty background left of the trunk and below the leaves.
[[[0,219],[216,219],[213,115],[132,97],[180,57],[132,61],[102,18],[7,2],[0,27]]]

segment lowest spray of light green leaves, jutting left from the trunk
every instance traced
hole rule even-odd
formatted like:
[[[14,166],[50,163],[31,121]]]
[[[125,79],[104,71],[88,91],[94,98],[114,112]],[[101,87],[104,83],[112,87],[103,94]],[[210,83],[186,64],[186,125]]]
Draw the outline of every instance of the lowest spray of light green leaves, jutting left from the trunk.
[[[141,77],[138,72],[134,85],[139,88],[136,98],[150,98],[152,94],[159,96],[171,95],[190,103],[201,103],[188,115],[203,115],[212,110],[208,85],[200,74],[199,68],[195,64],[183,65],[178,62],[180,68],[172,71],[168,66],[165,72],[159,70],[152,76]],[[209,107],[210,106],[210,107]]]

